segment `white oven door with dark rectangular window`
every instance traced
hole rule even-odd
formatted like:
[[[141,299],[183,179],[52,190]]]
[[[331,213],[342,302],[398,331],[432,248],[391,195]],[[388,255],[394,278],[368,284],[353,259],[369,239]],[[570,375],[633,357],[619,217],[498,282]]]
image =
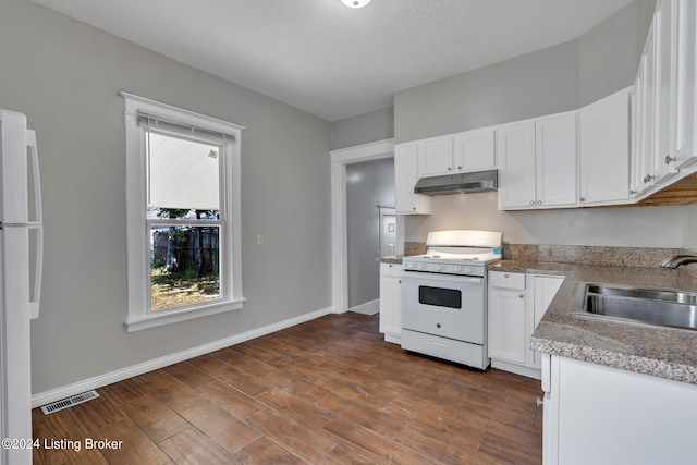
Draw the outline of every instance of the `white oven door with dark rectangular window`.
[[[402,327],[484,345],[485,278],[404,271]]]

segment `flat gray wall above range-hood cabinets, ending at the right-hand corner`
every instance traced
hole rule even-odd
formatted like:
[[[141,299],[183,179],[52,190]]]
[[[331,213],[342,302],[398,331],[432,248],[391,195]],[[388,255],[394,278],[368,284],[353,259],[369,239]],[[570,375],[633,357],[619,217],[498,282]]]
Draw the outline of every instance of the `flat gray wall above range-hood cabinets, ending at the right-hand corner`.
[[[561,44],[394,96],[403,143],[578,107],[578,47]]]

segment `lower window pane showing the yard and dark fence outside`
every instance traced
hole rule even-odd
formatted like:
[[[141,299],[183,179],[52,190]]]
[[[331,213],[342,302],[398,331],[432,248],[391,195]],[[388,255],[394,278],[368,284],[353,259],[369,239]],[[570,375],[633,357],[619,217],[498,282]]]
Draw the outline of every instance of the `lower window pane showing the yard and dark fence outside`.
[[[220,227],[150,228],[150,308],[220,297]]]

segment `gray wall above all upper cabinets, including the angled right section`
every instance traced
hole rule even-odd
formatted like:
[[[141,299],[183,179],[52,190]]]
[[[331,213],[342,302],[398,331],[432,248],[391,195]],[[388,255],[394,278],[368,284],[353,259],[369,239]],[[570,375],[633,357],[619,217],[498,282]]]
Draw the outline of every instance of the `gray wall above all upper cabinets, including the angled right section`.
[[[632,85],[655,4],[637,0],[576,40],[395,94],[395,143],[574,110]]]

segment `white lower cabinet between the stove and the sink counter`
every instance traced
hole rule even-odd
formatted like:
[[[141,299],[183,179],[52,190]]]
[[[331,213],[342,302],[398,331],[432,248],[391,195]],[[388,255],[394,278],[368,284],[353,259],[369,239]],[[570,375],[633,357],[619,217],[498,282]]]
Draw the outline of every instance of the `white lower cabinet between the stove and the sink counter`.
[[[489,271],[488,345],[491,367],[540,378],[530,335],[564,278]]]

